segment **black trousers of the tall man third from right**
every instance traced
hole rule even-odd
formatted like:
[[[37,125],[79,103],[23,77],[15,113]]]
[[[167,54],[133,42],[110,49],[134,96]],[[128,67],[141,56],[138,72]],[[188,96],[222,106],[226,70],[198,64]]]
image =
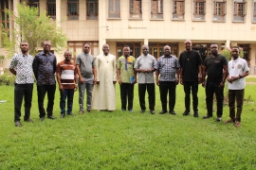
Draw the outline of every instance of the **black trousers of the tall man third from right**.
[[[198,81],[185,81],[183,82],[185,92],[185,108],[186,111],[191,110],[191,92],[192,92],[192,109],[198,111]]]

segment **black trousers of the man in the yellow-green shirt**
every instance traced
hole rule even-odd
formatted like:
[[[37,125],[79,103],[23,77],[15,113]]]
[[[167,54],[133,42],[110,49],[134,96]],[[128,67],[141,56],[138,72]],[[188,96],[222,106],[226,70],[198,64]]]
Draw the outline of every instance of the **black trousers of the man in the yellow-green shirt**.
[[[134,87],[135,87],[135,84],[131,84],[131,83],[120,84],[120,98],[121,98],[122,110],[126,110],[127,98],[128,98],[128,110],[133,110]]]

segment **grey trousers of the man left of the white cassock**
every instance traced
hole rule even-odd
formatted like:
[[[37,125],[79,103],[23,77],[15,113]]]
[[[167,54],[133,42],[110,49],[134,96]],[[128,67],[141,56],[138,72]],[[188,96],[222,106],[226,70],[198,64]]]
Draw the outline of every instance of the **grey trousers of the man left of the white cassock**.
[[[84,92],[86,90],[87,93],[87,110],[91,110],[92,105],[92,91],[93,91],[93,81],[91,82],[85,82],[83,81],[83,84],[79,81],[79,107],[80,111],[83,111],[83,98],[84,98]]]

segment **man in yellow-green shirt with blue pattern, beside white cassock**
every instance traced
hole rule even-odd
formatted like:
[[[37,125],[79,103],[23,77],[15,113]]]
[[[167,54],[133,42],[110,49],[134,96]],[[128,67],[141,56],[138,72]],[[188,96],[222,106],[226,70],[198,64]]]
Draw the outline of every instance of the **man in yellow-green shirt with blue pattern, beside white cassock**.
[[[123,56],[119,57],[117,68],[120,85],[121,110],[126,110],[128,97],[128,110],[133,112],[134,87],[137,82],[136,71],[134,65],[136,59],[130,56],[130,47],[125,45],[123,48]]]

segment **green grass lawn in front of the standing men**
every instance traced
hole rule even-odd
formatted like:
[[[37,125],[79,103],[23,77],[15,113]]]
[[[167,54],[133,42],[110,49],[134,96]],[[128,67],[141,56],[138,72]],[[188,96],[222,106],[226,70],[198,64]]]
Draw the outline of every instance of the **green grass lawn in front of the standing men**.
[[[78,114],[78,92],[74,97],[76,116],[60,118],[59,91],[54,116],[57,120],[39,121],[36,86],[31,118],[34,123],[14,127],[13,87],[0,86],[0,169],[256,169],[255,130],[256,85],[247,85],[242,126],[234,127],[207,113],[204,89],[199,87],[199,118],[182,116],[184,93],[177,86],[177,115],[158,112],[156,87],[155,115],[140,113],[137,85],[134,112],[120,112],[119,86],[117,110]],[[146,96],[147,98],[147,96]],[[148,102],[147,102],[148,103]],[[229,119],[224,108],[223,119]]]

